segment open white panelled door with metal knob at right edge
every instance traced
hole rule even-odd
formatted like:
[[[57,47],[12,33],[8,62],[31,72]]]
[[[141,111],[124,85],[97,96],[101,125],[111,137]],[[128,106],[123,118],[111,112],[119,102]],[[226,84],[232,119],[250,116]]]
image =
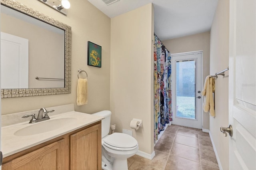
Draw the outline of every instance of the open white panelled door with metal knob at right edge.
[[[256,1],[230,1],[230,169],[256,169]]]

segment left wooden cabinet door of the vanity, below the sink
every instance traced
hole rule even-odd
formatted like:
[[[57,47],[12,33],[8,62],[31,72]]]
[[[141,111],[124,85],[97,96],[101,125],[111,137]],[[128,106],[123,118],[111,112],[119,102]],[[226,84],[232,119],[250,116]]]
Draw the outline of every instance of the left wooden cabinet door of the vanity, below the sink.
[[[68,169],[65,158],[65,140],[59,140],[40,149],[24,154],[2,165],[2,170],[64,170]],[[60,156],[62,155],[62,157]],[[67,159],[67,160],[66,160]]]

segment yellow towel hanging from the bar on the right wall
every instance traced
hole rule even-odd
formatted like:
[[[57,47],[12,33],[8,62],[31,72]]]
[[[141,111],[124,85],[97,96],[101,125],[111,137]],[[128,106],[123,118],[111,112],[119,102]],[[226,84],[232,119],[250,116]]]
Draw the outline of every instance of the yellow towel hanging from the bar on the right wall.
[[[202,95],[204,97],[204,112],[209,112],[212,117],[215,117],[215,110],[214,110],[214,97],[213,93],[215,92],[215,79],[208,75],[204,82],[204,89],[202,91]]]

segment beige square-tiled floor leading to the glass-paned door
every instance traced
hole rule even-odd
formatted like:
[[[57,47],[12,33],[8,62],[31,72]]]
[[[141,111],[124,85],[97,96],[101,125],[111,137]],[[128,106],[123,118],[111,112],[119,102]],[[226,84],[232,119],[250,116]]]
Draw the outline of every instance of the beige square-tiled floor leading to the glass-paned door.
[[[218,170],[210,136],[201,129],[171,125],[156,146],[156,156],[148,160],[138,155],[128,158],[129,170]]]

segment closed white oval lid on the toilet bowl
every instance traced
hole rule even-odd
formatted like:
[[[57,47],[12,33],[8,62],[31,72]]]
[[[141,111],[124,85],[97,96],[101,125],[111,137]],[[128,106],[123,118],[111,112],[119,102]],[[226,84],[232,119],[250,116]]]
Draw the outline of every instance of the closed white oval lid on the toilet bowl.
[[[132,148],[138,144],[134,137],[118,132],[110,134],[108,137],[104,138],[103,141],[108,145],[118,148]]]

